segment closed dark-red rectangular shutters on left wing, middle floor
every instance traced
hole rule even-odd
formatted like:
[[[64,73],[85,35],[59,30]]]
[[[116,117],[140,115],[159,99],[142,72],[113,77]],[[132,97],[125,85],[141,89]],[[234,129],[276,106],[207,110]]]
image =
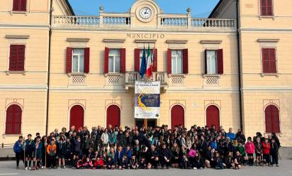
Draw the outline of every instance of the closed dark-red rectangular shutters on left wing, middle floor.
[[[26,45],[10,45],[9,71],[24,71]]]

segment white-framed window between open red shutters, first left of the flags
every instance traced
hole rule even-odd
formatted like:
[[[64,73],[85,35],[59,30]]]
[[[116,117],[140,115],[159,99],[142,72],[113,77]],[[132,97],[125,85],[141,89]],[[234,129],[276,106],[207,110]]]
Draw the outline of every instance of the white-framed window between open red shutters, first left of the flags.
[[[120,49],[110,49],[108,53],[108,72],[120,73]]]

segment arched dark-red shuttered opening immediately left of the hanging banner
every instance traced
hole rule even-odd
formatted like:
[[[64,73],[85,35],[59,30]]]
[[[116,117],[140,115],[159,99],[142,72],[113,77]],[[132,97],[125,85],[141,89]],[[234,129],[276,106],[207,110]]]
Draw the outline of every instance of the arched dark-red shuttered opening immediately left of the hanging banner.
[[[106,126],[120,126],[120,108],[116,105],[108,106],[106,110]]]

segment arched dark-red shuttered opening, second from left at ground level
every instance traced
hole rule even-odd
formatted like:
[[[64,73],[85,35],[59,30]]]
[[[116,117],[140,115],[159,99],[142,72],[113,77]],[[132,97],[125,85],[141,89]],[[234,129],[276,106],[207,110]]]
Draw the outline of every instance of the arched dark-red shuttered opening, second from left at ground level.
[[[75,129],[84,127],[84,109],[82,106],[75,105],[70,110],[70,126],[75,126]]]

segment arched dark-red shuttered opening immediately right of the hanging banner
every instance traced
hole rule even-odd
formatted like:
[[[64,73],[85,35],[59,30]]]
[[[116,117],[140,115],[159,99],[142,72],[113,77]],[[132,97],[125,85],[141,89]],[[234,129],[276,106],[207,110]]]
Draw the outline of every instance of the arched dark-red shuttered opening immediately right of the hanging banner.
[[[179,105],[173,106],[171,111],[171,118],[172,129],[174,129],[174,126],[179,125],[182,125],[184,127],[184,108]]]

